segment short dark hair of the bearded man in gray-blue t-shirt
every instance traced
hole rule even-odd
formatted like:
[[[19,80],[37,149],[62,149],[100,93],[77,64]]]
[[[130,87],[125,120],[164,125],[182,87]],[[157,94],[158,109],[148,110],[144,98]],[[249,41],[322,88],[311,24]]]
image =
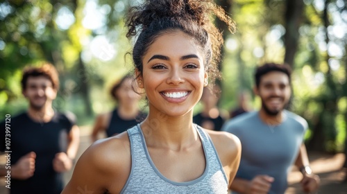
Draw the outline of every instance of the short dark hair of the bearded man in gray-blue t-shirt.
[[[259,87],[260,79],[262,78],[262,76],[271,71],[279,71],[285,73],[289,78],[289,84],[291,83],[291,67],[288,64],[269,62],[255,69],[255,85]]]

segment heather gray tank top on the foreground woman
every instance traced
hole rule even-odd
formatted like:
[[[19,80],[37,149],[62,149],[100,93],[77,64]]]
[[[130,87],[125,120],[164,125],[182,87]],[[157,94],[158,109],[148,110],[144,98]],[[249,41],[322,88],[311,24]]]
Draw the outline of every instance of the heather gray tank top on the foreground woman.
[[[228,193],[228,179],[210,136],[198,125],[196,129],[205,152],[205,171],[192,181],[173,182],[153,164],[140,126],[130,128],[131,171],[121,193]]]

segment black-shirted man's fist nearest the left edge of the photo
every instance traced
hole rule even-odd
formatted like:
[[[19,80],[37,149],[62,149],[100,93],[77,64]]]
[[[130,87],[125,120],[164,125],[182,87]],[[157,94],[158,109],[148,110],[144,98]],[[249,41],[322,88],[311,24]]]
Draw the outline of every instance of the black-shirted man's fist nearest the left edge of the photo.
[[[12,177],[22,180],[32,177],[35,171],[35,159],[35,152],[28,152],[21,157],[12,167]]]

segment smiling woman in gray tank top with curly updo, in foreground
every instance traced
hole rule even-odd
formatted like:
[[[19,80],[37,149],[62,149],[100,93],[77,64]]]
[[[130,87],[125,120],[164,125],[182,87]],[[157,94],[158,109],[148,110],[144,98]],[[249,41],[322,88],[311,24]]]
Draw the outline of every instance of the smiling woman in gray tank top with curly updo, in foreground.
[[[144,1],[130,10],[127,37],[137,37],[135,80],[149,114],[91,145],[63,193],[83,187],[94,193],[228,193],[239,166],[239,139],[192,121],[203,88],[219,77],[222,39],[210,13],[235,27],[212,0]]]

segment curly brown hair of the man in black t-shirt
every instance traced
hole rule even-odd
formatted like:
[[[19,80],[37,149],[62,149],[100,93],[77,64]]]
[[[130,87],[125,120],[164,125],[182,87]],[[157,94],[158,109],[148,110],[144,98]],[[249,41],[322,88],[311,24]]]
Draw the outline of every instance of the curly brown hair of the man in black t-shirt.
[[[28,82],[28,78],[30,77],[39,77],[44,76],[45,78],[48,78],[52,82],[53,89],[58,90],[59,89],[59,77],[58,77],[58,71],[56,70],[56,67],[54,67],[49,62],[45,62],[40,67],[32,67],[28,66],[23,71],[23,78],[22,78],[22,91],[26,89],[26,83]]]

